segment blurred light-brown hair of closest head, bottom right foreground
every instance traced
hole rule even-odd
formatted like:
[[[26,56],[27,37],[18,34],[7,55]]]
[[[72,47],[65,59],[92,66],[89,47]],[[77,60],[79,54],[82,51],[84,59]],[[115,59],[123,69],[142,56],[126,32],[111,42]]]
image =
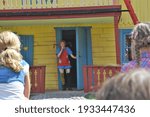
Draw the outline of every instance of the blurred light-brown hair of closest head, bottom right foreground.
[[[97,92],[98,100],[149,100],[150,71],[135,69],[107,80]]]

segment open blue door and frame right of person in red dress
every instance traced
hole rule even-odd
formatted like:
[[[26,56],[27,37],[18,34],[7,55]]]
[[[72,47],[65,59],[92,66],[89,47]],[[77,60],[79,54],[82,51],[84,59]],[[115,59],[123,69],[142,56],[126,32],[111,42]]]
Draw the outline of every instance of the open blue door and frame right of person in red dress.
[[[84,88],[83,69],[84,65],[90,61],[91,54],[88,53],[88,29],[85,27],[76,28],[76,48],[77,48],[77,89]],[[90,38],[89,38],[90,39]],[[89,43],[90,44],[90,43]],[[80,54],[80,55],[79,55]],[[89,60],[88,60],[89,59]],[[92,59],[91,59],[92,60]],[[92,63],[92,62],[90,62]]]

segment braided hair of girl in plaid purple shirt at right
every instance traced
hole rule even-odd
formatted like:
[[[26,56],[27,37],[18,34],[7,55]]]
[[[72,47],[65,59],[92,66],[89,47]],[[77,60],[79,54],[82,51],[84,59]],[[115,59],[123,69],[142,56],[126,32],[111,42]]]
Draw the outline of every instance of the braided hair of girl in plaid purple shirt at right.
[[[150,45],[150,23],[137,24],[131,35],[133,41],[135,41],[135,59],[137,65],[140,66],[140,49],[148,47]]]

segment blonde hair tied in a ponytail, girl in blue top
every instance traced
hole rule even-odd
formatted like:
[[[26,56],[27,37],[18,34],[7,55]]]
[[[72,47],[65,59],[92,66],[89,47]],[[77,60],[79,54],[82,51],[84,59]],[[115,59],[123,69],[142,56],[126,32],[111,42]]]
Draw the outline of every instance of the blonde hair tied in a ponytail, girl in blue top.
[[[0,33],[0,65],[6,66],[19,72],[23,69],[20,62],[22,55],[20,54],[19,37],[10,31]]]

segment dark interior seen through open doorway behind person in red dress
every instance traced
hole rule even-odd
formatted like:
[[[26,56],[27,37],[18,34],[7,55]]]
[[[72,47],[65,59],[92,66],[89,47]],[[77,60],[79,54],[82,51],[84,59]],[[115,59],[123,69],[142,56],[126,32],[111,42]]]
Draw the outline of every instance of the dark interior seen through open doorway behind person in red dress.
[[[76,30],[62,30],[62,39],[66,41],[66,46],[69,47],[73,55],[76,56]],[[77,88],[77,66],[76,60],[69,57],[71,62],[71,86]]]

